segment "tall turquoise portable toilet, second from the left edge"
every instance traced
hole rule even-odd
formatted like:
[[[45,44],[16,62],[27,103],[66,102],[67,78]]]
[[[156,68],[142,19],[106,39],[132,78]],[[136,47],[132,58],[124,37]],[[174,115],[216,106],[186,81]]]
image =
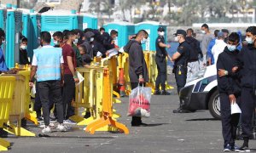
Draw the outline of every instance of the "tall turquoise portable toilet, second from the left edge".
[[[21,20],[21,11],[7,10],[5,59],[9,68],[14,67],[15,63],[19,62]]]

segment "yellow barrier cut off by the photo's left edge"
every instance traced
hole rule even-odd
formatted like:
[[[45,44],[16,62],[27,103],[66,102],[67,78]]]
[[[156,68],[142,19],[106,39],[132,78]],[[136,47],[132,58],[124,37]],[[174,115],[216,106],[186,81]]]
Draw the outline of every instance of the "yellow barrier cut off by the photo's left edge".
[[[0,77],[0,128],[9,121],[9,111],[14,99],[15,77]],[[0,151],[8,150],[10,143],[0,138]]]

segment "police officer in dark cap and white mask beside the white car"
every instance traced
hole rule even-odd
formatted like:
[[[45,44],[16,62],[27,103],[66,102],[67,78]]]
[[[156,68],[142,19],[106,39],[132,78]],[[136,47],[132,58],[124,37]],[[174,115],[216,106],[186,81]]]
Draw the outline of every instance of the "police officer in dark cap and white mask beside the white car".
[[[177,48],[177,52],[172,55],[172,61],[174,61],[173,73],[175,74],[175,79],[177,83],[177,93],[179,94],[180,89],[183,88],[186,84],[187,80],[187,65],[189,60],[189,44],[185,42],[185,37],[187,35],[186,31],[177,30],[174,34],[175,41],[179,42],[179,46]],[[184,113],[188,112],[183,110],[183,104],[180,102],[180,106],[177,110],[174,110],[173,113]]]

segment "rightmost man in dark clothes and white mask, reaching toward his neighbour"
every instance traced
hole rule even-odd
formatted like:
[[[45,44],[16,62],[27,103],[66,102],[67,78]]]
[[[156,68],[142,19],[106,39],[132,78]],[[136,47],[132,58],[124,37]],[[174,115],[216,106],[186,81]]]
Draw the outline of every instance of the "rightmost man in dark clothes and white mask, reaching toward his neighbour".
[[[241,152],[250,151],[248,143],[253,134],[252,118],[256,101],[256,26],[248,27],[246,32],[248,45],[241,48],[238,65],[232,69],[232,72],[241,69],[241,136],[244,141]]]

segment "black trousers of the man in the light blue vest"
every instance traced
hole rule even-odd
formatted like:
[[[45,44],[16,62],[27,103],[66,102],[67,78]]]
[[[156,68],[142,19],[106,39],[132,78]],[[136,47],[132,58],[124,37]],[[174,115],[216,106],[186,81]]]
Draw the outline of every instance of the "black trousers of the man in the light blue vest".
[[[45,81],[38,82],[39,97],[43,106],[44,125],[49,126],[49,94],[55,104],[58,122],[63,123],[63,105],[61,99],[61,82]]]

